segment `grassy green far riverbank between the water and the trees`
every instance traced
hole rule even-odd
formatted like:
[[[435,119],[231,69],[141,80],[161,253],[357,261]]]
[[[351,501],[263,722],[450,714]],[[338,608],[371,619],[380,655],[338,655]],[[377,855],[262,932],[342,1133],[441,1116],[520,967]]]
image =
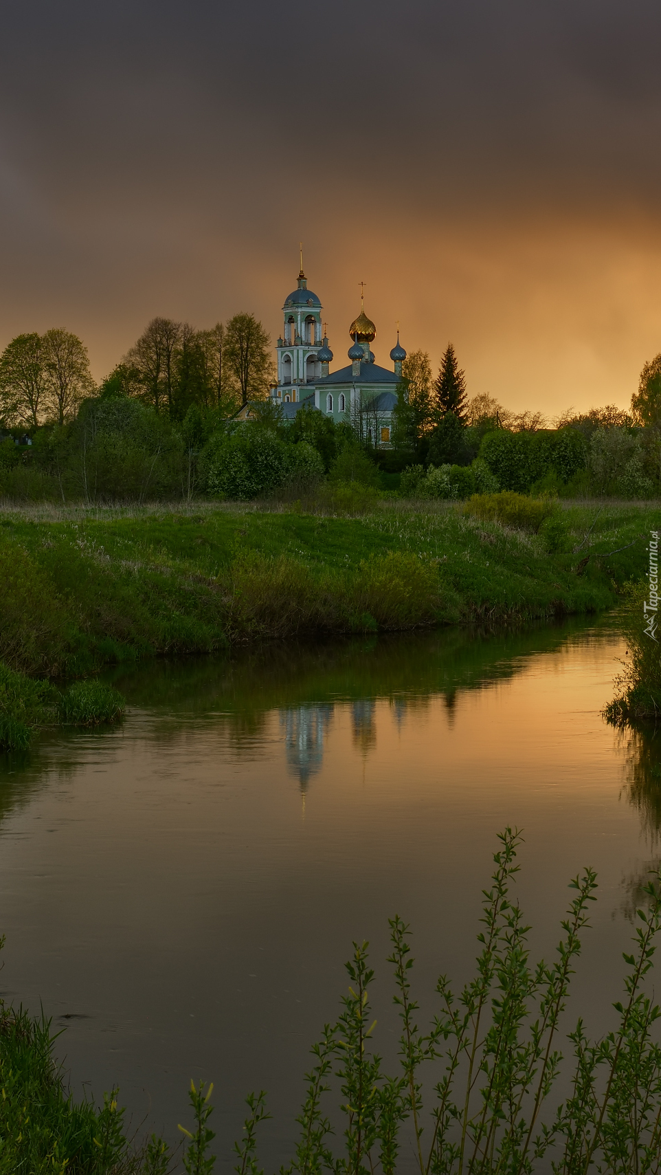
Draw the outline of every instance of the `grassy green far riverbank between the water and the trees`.
[[[613,606],[654,506],[575,505],[528,533],[461,506],[0,515],[0,659],[83,676],[255,638],[499,624]]]

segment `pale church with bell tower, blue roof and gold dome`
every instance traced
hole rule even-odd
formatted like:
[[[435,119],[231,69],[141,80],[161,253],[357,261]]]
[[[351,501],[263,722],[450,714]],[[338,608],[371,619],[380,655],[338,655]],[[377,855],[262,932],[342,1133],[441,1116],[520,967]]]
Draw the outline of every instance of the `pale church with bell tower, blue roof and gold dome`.
[[[406,358],[399,331],[390,352],[390,371],[375,363],[370,343],[377,328],[367,318],[362,297],[360,314],[349,328],[353,340],[348,351],[350,363],[331,371],[332,351],[322,330],[322,303],[308,289],[303,266],[296,289],[285,298],[283,315],[284,329],[277,341],[278,382],[270,394],[282,404],[284,418],[291,419],[305,404],[332,416],[336,424],[346,421],[362,441],[389,445],[397,385]]]

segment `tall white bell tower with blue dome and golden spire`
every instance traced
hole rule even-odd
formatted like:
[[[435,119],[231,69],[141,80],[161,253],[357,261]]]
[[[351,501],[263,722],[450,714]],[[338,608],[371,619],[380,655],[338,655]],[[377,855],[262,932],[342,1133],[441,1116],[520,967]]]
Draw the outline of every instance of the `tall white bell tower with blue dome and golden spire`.
[[[303,250],[296,289],[288,295],[282,310],[284,329],[277,341],[278,383],[275,396],[279,401],[295,402],[304,400],[309,395],[305,385],[313,384],[322,375],[322,361],[317,357],[322,345],[322,303],[308,289]]]

